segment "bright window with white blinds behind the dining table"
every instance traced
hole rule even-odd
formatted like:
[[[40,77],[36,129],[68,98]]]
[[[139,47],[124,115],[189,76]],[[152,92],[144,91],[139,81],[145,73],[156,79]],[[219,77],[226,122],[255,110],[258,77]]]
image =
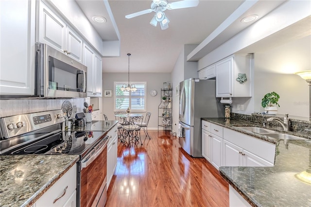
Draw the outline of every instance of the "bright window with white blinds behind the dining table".
[[[130,85],[135,84],[137,91],[121,91],[123,84],[114,82],[114,110],[125,111],[129,107],[132,112],[147,111],[145,94],[147,82],[130,82]]]

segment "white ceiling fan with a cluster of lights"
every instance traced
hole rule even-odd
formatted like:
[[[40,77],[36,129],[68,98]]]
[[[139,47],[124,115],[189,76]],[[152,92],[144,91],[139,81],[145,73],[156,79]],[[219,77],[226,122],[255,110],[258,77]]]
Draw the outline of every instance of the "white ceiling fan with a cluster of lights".
[[[198,4],[199,0],[180,0],[172,3],[168,3],[167,0],[152,0],[150,9],[126,15],[125,18],[133,18],[155,12],[155,16],[151,19],[150,24],[156,27],[157,22],[160,22],[161,29],[166,30],[169,28],[170,20],[165,16],[165,10],[195,7]]]

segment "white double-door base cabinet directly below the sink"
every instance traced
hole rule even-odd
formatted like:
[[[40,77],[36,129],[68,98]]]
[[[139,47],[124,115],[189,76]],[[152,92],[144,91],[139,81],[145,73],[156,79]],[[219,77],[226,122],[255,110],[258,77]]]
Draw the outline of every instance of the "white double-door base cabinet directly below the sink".
[[[273,166],[276,146],[224,128],[223,166]]]

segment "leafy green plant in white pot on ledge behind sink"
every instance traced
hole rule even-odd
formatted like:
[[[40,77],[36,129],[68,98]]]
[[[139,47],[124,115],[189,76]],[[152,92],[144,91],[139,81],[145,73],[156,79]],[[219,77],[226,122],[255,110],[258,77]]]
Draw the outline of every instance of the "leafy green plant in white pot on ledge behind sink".
[[[264,112],[266,114],[270,115],[276,115],[277,114],[277,107],[280,107],[280,105],[277,103],[280,96],[276,92],[267,93],[264,95],[264,97],[261,99],[261,106],[264,108]]]

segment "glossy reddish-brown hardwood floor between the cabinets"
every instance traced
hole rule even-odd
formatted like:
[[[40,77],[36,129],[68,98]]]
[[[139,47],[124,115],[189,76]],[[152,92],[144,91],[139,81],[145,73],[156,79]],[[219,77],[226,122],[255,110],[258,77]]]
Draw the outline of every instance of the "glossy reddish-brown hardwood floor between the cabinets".
[[[205,158],[193,158],[164,132],[143,145],[118,146],[105,207],[228,207],[228,183]]]

